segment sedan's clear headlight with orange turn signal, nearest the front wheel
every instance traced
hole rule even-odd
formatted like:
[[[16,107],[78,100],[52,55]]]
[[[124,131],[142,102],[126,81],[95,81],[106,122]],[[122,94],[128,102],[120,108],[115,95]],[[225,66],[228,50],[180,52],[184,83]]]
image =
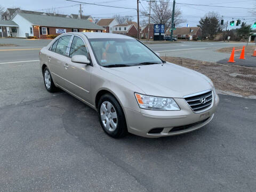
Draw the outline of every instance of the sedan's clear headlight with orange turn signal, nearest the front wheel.
[[[149,110],[180,110],[172,98],[154,97],[135,93],[140,108]]]

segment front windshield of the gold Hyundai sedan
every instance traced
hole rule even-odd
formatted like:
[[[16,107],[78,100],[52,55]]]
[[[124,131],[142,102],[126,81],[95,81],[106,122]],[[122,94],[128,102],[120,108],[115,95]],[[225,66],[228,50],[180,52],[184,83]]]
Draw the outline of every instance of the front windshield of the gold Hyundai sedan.
[[[91,38],[95,58],[103,67],[129,67],[163,63],[155,53],[135,39]]]

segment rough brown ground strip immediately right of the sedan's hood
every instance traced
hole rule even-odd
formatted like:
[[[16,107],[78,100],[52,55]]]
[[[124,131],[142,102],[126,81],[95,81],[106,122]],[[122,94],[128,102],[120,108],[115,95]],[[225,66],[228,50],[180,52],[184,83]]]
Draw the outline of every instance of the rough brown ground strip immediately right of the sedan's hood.
[[[219,64],[178,57],[162,57],[175,63],[198,71],[211,78],[218,90],[233,92],[243,96],[256,95],[256,69],[229,64]]]

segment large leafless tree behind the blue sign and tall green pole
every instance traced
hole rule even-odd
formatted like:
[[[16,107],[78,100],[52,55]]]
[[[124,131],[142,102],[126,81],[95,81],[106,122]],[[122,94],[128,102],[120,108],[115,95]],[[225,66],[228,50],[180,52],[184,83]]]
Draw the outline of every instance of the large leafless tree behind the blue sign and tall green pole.
[[[149,8],[148,8],[149,9]],[[142,11],[142,15],[148,17],[148,12]],[[150,19],[153,23],[164,24],[165,31],[172,25],[172,3],[170,0],[162,0],[151,2],[151,15]],[[185,22],[182,19],[182,12],[179,7],[175,6],[174,23],[178,26],[180,23]]]

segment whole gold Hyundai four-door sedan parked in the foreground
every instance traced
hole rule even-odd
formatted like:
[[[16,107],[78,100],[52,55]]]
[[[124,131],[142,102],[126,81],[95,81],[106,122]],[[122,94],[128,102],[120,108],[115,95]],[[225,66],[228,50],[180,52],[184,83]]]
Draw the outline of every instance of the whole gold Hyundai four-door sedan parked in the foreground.
[[[125,35],[62,34],[39,60],[46,90],[59,87],[95,109],[114,138],[194,131],[212,120],[219,103],[205,75],[166,62]]]

